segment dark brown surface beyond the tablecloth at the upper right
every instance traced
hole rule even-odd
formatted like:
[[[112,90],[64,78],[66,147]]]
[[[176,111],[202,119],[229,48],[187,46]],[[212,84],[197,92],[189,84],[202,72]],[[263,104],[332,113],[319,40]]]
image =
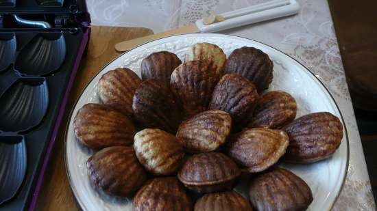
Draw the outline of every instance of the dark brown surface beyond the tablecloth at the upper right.
[[[329,0],[354,107],[377,111],[377,1]]]

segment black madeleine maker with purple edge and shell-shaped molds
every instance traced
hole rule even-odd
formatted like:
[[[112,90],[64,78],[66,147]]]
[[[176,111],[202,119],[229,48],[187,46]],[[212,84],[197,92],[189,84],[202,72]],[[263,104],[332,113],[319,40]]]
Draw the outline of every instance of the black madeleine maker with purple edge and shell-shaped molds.
[[[89,36],[84,0],[0,0],[0,211],[35,210]]]

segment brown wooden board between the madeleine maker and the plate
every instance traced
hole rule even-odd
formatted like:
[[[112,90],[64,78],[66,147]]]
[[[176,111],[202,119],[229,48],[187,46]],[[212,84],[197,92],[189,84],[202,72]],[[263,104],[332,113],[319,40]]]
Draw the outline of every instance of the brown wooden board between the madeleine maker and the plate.
[[[73,105],[90,79],[101,70],[109,61],[120,55],[114,49],[114,44],[123,40],[130,40],[153,33],[150,29],[129,27],[92,27],[89,40],[88,54],[81,61],[75,77],[69,102],[60,126],[45,179],[40,190],[36,210],[60,211],[80,210],[77,205],[71,186],[66,176],[64,164],[64,132]]]

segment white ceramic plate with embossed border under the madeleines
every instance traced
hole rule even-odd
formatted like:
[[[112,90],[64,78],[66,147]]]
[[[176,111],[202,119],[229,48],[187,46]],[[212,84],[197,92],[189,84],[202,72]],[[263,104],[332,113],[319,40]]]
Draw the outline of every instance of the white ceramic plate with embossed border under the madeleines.
[[[229,55],[235,48],[254,46],[269,55],[273,61],[273,81],[269,90],[284,90],[289,92],[297,101],[297,117],[317,111],[328,111],[342,120],[344,136],[335,154],[319,163],[310,165],[285,165],[297,175],[300,175],[313,191],[314,201],[308,210],[330,210],[335,203],[348,166],[348,136],[341,113],[332,96],[324,85],[304,66],[284,53],[246,38],[226,36],[221,34],[186,34],[163,38],[128,51],[110,62],[88,84],[73,109],[66,132],[66,169],[71,187],[80,206],[85,211],[127,211],[133,210],[132,199],[107,195],[95,188],[86,172],[86,160],[93,151],[82,147],[73,132],[73,116],[84,104],[99,102],[97,96],[97,82],[102,74],[119,67],[134,70],[140,76],[141,60],[156,51],[171,51],[183,60],[186,49],[197,42],[210,42],[220,46]],[[244,178],[245,179],[245,178]],[[236,191],[247,197],[247,185],[239,185]]]

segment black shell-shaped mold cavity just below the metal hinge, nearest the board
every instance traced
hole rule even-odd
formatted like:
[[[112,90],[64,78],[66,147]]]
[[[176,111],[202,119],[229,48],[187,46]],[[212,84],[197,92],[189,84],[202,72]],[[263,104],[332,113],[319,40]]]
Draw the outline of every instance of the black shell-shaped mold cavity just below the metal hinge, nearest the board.
[[[39,33],[21,49],[14,66],[25,74],[45,75],[58,70],[65,56],[62,33]]]

